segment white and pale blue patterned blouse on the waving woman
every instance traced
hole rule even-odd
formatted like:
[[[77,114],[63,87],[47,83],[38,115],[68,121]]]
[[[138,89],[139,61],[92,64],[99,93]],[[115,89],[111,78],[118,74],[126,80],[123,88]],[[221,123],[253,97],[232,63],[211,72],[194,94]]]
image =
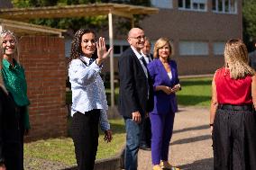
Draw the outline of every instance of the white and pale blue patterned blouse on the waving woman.
[[[108,106],[105,87],[99,75],[102,67],[98,67],[96,61],[88,66],[90,58],[81,58],[87,65],[80,59],[73,59],[69,64],[69,82],[72,90],[71,116],[75,112],[86,113],[93,109],[100,109],[101,130],[110,130],[106,115]]]

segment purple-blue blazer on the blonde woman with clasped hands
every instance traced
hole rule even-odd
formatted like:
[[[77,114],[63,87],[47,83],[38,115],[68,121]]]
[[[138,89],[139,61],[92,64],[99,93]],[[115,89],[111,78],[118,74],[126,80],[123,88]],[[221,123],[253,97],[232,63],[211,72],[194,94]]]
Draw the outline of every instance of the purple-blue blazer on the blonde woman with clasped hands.
[[[167,114],[178,111],[178,103],[175,94],[165,94],[163,91],[156,91],[157,85],[167,85],[173,87],[179,83],[177,64],[174,60],[169,61],[172,79],[163,67],[160,59],[154,59],[148,64],[148,70],[153,81],[154,109],[151,113]]]

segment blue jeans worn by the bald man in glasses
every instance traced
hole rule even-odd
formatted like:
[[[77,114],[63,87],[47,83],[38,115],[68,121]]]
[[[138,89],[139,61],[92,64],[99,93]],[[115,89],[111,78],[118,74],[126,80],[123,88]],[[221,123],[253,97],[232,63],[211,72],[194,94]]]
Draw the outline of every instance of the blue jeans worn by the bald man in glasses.
[[[126,129],[126,148],[124,156],[125,170],[136,170],[138,166],[137,155],[140,147],[141,123],[132,119],[124,119]]]

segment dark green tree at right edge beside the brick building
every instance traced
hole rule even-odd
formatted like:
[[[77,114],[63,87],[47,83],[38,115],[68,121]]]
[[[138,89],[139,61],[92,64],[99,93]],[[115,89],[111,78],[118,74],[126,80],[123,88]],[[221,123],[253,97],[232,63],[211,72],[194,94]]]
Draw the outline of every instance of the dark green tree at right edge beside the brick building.
[[[252,40],[256,39],[256,1],[242,1],[243,41],[249,51],[253,50]]]

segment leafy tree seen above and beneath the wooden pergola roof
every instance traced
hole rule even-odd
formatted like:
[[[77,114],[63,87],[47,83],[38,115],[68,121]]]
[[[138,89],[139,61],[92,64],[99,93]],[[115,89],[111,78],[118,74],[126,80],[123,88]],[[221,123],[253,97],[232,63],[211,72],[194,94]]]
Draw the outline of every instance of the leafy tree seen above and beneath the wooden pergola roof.
[[[151,0],[12,0],[14,7],[40,7],[53,5],[70,5],[70,4],[93,4],[93,3],[120,3],[151,6]],[[146,15],[137,15],[134,17],[135,25],[138,25]],[[35,19],[30,22],[40,25],[46,25],[53,28],[69,29],[77,31],[79,28],[88,28],[101,30],[107,28],[107,16],[91,16],[77,18],[59,18],[59,19]],[[116,20],[117,30],[120,32],[127,31],[130,28],[131,21],[126,19]]]

